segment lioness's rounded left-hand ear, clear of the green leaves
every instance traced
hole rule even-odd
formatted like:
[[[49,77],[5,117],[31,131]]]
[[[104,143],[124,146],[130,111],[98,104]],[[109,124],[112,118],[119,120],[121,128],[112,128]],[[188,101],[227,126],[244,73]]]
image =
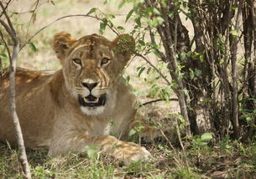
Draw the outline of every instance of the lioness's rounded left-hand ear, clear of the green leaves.
[[[75,42],[76,39],[73,38],[70,33],[55,33],[53,38],[53,49],[55,50],[58,59],[60,59],[61,64],[64,64],[66,54]]]

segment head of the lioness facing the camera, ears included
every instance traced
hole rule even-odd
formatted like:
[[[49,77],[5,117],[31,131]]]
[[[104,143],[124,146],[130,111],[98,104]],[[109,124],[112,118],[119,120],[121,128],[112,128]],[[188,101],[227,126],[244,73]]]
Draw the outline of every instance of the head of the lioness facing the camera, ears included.
[[[79,39],[56,33],[53,49],[63,66],[65,86],[86,115],[98,115],[112,100],[111,89],[131,57],[134,39],[123,34],[113,41],[97,34]]]

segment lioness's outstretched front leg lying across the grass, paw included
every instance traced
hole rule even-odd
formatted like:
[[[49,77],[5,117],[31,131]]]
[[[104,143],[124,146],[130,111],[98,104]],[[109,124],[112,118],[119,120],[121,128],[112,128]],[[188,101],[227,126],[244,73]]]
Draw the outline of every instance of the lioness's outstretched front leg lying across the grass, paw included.
[[[59,139],[52,141],[49,155],[65,155],[69,152],[86,153],[85,147],[95,145],[99,152],[114,156],[125,164],[131,161],[147,159],[150,156],[149,151],[144,147],[138,146],[132,142],[119,141],[113,136],[89,136],[85,134],[62,135]]]

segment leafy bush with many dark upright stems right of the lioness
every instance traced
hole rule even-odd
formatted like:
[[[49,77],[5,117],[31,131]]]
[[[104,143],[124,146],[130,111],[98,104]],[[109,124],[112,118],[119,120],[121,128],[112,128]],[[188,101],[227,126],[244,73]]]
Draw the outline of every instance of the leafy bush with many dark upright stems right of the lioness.
[[[137,68],[138,77],[155,73],[156,80],[165,79],[167,84],[153,82],[149,95],[167,100],[175,92],[187,134],[211,131],[224,137],[232,131],[233,138],[252,139],[256,122],[252,1],[123,0],[119,7],[126,3],[133,4],[126,16],[126,22],[133,21],[131,34],[138,41],[133,54],[149,64]],[[188,23],[193,28],[187,28]],[[152,64],[149,55],[165,64],[170,75]]]

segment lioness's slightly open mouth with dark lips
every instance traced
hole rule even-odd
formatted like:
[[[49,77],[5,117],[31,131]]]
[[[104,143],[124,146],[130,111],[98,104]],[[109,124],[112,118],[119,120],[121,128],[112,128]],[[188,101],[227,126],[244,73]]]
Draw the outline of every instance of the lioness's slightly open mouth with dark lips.
[[[106,100],[107,100],[106,94],[101,95],[101,97],[99,97],[98,99],[97,99],[97,97],[95,97],[93,95],[88,95],[88,96],[86,96],[86,98],[83,98],[83,97],[81,97],[81,95],[78,95],[78,101],[79,101],[80,105],[83,107],[102,106],[102,105],[105,105]]]

